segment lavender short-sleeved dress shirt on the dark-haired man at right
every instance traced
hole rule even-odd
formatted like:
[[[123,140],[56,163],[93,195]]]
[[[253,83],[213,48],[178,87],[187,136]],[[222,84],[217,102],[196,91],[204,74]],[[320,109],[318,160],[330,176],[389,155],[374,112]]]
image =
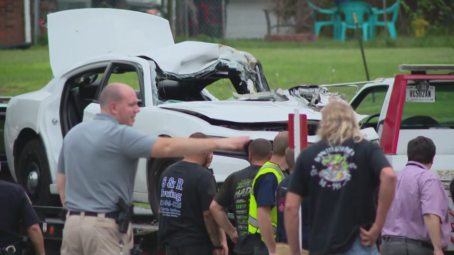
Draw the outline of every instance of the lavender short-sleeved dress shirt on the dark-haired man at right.
[[[409,161],[397,173],[395,198],[386,216],[382,235],[398,235],[432,243],[423,215],[435,214],[441,220],[441,246],[448,248],[451,225],[449,198],[439,178],[423,164]]]

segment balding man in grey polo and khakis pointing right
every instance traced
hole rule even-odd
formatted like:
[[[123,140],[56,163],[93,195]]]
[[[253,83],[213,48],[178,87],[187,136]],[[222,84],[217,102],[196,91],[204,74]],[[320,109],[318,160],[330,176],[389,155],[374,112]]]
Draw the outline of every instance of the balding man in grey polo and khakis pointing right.
[[[74,126],[63,139],[57,189],[68,210],[62,255],[130,254],[133,234],[116,222],[119,199],[133,200],[138,159],[182,157],[213,150],[242,149],[248,137],[197,139],[152,137],[133,128],[140,111],[133,88],[107,85],[99,97],[101,113]]]

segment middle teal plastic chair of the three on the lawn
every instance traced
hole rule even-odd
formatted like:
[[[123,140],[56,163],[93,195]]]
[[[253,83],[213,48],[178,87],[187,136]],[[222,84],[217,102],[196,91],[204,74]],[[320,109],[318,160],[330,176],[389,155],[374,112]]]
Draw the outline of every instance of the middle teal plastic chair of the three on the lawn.
[[[345,20],[341,21],[341,41],[345,42],[345,32],[347,29],[356,29],[355,18],[353,13],[356,13],[358,27],[363,29],[363,39],[367,41],[369,29],[371,26],[372,7],[366,2],[349,1],[339,5],[339,13],[345,16]],[[364,20],[364,16],[368,15],[368,20]]]

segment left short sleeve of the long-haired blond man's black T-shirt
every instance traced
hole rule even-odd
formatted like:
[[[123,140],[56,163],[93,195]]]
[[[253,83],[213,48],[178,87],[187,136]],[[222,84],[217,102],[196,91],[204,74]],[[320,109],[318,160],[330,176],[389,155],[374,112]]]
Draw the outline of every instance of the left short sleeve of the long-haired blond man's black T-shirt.
[[[301,197],[309,195],[309,172],[310,169],[306,169],[304,164],[305,152],[302,151],[296,158],[295,167],[291,173],[292,177],[288,186],[288,191],[298,194]]]

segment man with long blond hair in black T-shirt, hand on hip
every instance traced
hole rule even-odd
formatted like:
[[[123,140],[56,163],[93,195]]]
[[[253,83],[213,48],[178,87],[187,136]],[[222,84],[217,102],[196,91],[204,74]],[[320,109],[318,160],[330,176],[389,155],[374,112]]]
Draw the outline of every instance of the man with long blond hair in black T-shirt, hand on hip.
[[[301,254],[298,210],[302,198],[311,196],[310,254],[378,255],[375,241],[394,198],[394,170],[381,148],[363,138],[348,103],[332,101],[321,113],[320,141],[297,157],[287,192],[291,254]]]

